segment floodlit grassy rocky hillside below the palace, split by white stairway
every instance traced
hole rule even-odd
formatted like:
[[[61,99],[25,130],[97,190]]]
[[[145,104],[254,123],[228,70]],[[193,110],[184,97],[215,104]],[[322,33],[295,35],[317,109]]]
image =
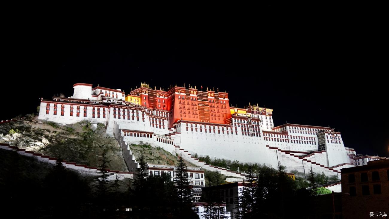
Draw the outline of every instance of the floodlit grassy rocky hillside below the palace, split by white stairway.
[[[104,124],[92,125],[89,122],[61,125],[38,120],[37,117],[0,124],[0,143],[25,148],[51,157],[77,164],[98,166],[99,157],[107,150],[111,170],[128,171],[123,160],[122,150],[114,137],[106,134]],[[151,145],[130,145],[135,157],[141,153],[145,161],[152,164],[176,165],[177,155],[163,148]],[[188,166],[195,166],[187,162]]]

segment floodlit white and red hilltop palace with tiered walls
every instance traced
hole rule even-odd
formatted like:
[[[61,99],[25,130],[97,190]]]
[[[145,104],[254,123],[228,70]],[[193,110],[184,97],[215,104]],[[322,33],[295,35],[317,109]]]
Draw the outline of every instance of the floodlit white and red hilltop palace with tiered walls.
[[[189,85],[168,90],[149,87],[125,94],[120,89],[74,85],[72,97],[53,97],[40,102],[39,119],[60,124],[88,120],[102,123],[123,149],[129,170],[137,167],[128,144],[149,143],[206,169],[228,176],[235,173],[198,161],[193,154],[256,162],[287,171],[338,175],[354,166],[354,149],[346,148],[340,132],[315,125],[273,124],[273,109],[251,105],[232,107],[228,93],[198,90]]]

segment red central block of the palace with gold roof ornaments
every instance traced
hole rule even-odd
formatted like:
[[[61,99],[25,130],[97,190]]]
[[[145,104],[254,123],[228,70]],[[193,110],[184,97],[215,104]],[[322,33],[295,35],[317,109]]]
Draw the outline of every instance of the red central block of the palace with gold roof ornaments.
[[[231,124],[230,104],[226,92],[177,86],[165,91],[151,89],[149,85],[142,84],[130,94],[140,97],[141,106],[168,111],[169,128],[178,120]]]

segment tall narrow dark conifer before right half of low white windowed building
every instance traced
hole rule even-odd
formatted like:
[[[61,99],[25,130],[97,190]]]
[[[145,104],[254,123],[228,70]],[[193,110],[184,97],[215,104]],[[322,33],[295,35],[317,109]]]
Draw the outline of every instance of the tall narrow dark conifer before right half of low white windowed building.
[[[193,195],[191,189],[191,182],[189,181],[187,173],[187,165],[184,159],[180,156],[176,166],[176,173],[174,178],[174,185],[176,187],[180,216],[183,215],[183,209],[192,203]]]

